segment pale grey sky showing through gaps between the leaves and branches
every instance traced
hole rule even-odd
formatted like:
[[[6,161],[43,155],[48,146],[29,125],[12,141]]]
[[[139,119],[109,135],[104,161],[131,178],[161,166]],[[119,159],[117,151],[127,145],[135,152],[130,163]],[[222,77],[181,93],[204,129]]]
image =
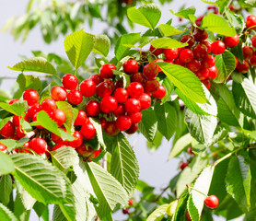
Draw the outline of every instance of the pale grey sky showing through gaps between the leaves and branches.
[[[25,13],[26,6],[29,0],[0,0],[0,29],[3,28],[6,20],[13,16],[20,16]],[[162,17],[159,23],[165,23],[169,18],[173,18],[173,24],[178,23],[177,17],[170,14],[169,9],[178,11],[180,6],[196,6],[196,15],[200,16],[204,13],[206,5],[200,0],[185,1],[174,0],[171,4],[161,6]],[[99,34],[102,24],[97,25],[97,29],[88,29],[87,32],[93,34]],[[135,26],[134,32],[142,31],[141,26]],[[7,69],[7,66],[12,66],[21,61],[19,55],[26,55],[32,57],[31,51],[40,50],[43,52],[54,52],[65,56],[64,52],[64,36],[60,36],[58,41],[52,41],[51,45],[44,43],[41,37],[41,31],[39,27],[29,33],[27,41],[14,41],[13,37],[7,32],[0,32],[0,77],[16,78],[18,72]],[[9,90],[13,87],[14,79],[4,80],[0,85],[1,89]],[[157,149],[155,153],[150,153],[146,148],[145,137],[139,134],[135,134],[130,137],[131,144],[134,144],[134,152],[139,162],[140,167],[140,180],[145,180],[149,185],[155,186],[157,192],[160,192],[161,188],[166,187],[169,184],[170,178],[176,175],[179,167],[179,159],[169,158],[169,151],[171,149],[171,141],[164,140],[162,145]],[[31,216],[30,220],[35,220],[35,215]],[[122,215],[117,215],[116,218],[121,218]],[[223,219],[215,218],[215,221],[221,221]]]

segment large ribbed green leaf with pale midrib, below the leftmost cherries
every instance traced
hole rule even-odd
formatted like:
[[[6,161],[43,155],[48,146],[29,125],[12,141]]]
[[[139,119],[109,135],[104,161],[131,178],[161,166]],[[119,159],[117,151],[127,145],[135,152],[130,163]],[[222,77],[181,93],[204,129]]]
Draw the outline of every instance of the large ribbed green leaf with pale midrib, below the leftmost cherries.
[[[68,183],[64,173],[41,157],[15,154],[11,158],[15,164],[15,178],[32,197],[43,204],[65,202]]]

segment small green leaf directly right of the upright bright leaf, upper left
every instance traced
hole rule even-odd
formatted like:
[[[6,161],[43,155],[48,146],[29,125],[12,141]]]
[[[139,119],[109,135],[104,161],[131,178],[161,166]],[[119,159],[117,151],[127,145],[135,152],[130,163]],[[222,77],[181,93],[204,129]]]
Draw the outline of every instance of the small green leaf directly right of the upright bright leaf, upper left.
[[[110,52],[111,48],[111,41],[107,35],[97,35],[96,36],[96,43],[92,52],[97,52],[105,57],[107,57],[108,53]]]

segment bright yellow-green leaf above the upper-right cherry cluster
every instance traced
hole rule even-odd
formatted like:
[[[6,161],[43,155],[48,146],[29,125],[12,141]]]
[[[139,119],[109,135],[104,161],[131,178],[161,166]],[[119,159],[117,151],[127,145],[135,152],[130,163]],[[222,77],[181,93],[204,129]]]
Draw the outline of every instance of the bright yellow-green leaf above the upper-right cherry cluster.
[[[208,13],[204,16],[201,28],[225,36],[234,37],[236,35],[236,29],[229,27],[227,21],[223,17],[213,13]]]

